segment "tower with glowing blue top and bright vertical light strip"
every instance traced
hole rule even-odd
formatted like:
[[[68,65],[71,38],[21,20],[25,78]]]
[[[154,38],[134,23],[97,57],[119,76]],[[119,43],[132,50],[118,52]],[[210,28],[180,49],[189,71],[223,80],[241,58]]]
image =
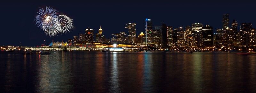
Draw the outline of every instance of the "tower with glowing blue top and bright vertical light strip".
[[[148,46],[148,43],[152,42],[152,22],[151,19],[146,18],[146,31],[145,31],[145,41],[143,41],[143,44]]]

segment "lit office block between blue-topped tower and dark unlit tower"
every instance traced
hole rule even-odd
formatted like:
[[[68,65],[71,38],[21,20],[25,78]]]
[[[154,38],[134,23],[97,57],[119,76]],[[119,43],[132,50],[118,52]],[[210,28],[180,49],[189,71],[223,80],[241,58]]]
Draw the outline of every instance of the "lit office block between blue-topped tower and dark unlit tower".
[[[152,43],[148,43],[148,44],[154,44],[156,45],[156,47],[162,46],[161,29],[153,30],[151,35],[152,35]]]

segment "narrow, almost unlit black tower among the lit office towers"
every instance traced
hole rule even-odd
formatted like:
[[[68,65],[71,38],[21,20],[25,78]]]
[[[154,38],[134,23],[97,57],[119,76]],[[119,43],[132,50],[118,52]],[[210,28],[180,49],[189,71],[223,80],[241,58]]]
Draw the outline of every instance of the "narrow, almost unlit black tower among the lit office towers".
[[[167,48],[167,26],[162,24],[162,47]]]

